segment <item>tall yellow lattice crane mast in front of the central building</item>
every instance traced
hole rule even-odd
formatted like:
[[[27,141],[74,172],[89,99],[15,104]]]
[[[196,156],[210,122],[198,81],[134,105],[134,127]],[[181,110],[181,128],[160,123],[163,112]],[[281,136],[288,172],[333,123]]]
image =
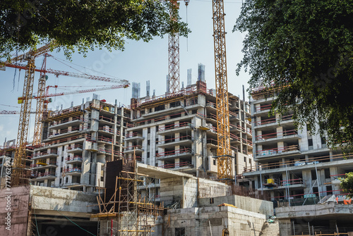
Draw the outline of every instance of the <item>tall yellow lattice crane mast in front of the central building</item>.
[[[225,47],[225,9],[223,0],[213,0],[213,38],[215,46],[215,84],[217,101],[217,175],[230,184],[233,180],[232,149],[229,135],[227,58]]]

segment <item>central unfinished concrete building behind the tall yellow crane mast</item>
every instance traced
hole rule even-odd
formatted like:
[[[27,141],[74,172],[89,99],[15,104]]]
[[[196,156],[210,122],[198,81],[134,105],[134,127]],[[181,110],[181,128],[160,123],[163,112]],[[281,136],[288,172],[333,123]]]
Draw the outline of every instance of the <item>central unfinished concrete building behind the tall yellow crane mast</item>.
[[[131,99],[126,129],[126,158],[197,177],[217,177],[217,111],[215,92],[198,81],[178,94]],[[229,94],[234,175],[254,165],[248,102]]]

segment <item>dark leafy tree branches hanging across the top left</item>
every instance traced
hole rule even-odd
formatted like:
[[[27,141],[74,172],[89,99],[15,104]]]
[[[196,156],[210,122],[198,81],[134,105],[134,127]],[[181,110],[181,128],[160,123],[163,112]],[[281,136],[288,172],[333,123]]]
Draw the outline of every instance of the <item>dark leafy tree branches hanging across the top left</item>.
[[[166,1],[155,0],[2,0],[0,54],[25,51],[55,39],[66,56],[95,47],[124,49],[126,39],[144,40],[169,32],[187,35],[180,18],[172,20]]]

